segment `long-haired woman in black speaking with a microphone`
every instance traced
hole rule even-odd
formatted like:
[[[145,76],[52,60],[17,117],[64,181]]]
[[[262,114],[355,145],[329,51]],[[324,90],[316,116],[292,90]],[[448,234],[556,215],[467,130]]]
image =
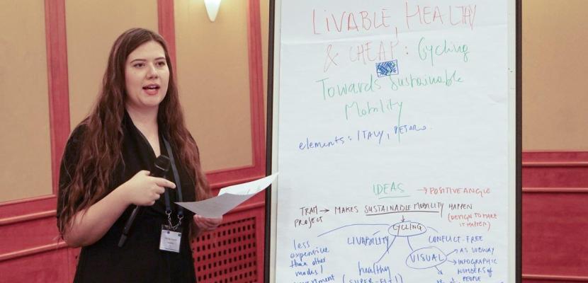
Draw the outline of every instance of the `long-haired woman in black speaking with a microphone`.
[[[111,49],[94,109],[67,141],[57,226],[69,246],[82,247],[74,282],[196,281],[188,235],[213,230],[222,219],[174,204],[203,200],[210,187],[172,70],[161,36],[127,30]],[[167,174],[174,182],[149,175],[159,155],[175,161],[176,172]],[[142,208],[119,245],[135,205]],[[171,248],[160,248],[162,241]]]

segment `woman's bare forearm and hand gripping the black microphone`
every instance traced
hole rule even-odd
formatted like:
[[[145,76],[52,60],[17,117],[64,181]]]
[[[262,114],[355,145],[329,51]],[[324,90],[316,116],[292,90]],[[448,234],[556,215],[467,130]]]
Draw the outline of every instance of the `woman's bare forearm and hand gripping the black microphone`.
[[[130,204],[153,205],[165,192],[164,187],[175,188],[176,185],[164,178],[149,176],[149,171],[140,171],[102,200],[77,212],[67,224],[64,241],[73,247],[96,243]]]

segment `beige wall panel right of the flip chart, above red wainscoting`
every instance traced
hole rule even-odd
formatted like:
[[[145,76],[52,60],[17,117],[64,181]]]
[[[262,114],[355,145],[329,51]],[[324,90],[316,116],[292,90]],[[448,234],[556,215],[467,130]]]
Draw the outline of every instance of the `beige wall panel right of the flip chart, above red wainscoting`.
[[[588,150],[586,0],[523,1],[523,150]]]

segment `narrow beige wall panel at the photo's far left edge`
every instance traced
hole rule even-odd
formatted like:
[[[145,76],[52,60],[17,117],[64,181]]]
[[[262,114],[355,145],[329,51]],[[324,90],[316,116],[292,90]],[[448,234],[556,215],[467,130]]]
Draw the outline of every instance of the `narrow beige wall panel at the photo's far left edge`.
[[[0,202],[52,194],[43,1],[0,8]]]

